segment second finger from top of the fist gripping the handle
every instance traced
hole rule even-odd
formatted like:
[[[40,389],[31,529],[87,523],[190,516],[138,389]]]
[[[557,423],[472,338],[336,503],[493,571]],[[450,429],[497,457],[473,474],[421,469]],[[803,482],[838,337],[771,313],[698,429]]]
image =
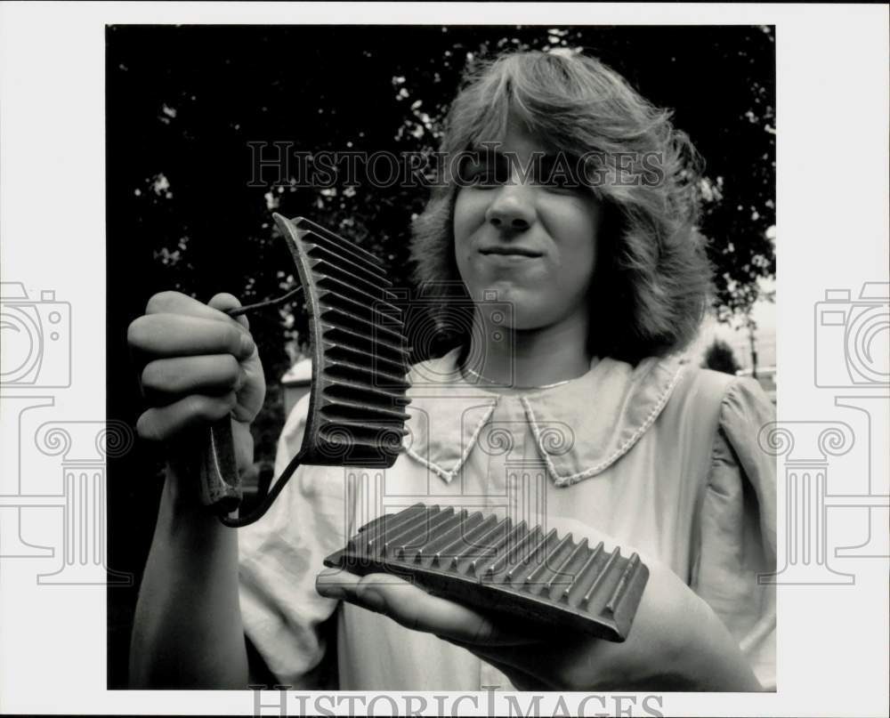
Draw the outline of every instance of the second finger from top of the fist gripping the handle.
[[[231,319],[223,322],[182,314],[146,314],[134,319],[127,342],[134,350],[158,358],[232,354],[243,360],[256,349],[250,335]]]

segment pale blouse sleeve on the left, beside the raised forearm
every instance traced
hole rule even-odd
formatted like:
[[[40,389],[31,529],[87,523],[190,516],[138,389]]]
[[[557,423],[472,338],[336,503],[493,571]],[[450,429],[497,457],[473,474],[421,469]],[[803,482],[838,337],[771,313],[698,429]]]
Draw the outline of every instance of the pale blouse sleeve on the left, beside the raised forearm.
[[[294,407],[279,439],[275,476],[303,440],[308,394]],[[263,518],[239,528],[241,616],[245,633],[280,684],[322,687],[327,650],[322,624],[336,601],[315,591],[322,561],[344,536],[343,480],[325,467],[301,466]]]

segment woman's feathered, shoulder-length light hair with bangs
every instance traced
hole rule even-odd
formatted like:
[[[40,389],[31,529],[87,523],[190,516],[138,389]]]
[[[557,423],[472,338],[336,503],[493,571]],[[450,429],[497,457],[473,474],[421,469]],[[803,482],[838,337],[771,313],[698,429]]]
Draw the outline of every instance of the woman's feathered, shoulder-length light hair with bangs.
[[[705,310],[710,268],[695,230],[699,157],[671,125],[670,112],[595,58],[512,52],[465,75],[446,119],[442,156],[503,137],[510,113],[564,156],[585,157],[584,183],[605,207],[589,350],[636,363],[689,343]],[[446,172],[445,182],[433,187],[412,228],[411,256],[422,286],[460,281],[456,174]],[[445,343],[465,345],[469,327],[449,320],[447,300],[439,309],[440,327],[452,327]]]

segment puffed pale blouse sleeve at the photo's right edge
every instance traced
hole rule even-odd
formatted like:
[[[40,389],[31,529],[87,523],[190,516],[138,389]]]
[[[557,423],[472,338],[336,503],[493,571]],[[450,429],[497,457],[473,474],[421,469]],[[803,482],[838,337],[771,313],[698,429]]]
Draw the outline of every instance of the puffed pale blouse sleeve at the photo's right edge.
[[[776,470],[758,446],[775,410],[754,379],[726,390],[700,513],[692,589],[739,641],[765,690],[775,690]]]

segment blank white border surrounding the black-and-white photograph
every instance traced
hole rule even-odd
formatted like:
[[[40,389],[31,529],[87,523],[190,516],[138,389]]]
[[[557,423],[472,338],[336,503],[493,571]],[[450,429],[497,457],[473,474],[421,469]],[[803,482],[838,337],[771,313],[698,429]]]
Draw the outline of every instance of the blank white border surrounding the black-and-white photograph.
[[[817,347],[822,351],[816,323],[827,290],[848,290],[855,303],[865,283],[887,286],[888,13],[879,4],[4,3],[0,271],[4,281],[21,282],[29,295],[51,289],[76,309],[71,351],[77,381],[63,391],[31,392],[35,406],[41,400],[52,404],[52,417],[70,422],[105,415],[105,26],[344,22],[774,25],[779,420],[848,422],[843,402],[868,388],[814,383],[814,363],[820,360],[814,354]],[[47,203],[42,188],[51,184],[65,190]],[[875,396],[883,396],[886,385],[877,391]],[[12,415],[12,403],[4,404],[5,439],[18,416]],[[881,421],[881,415],[871,418],[876,427]],[[886,451],[886,433],[856,446],[866,444]],[[863,454],[859,469],[850,468],[855,452],[846,456],[852,463],[845,471],[872,473],[870,494],[851,490],[830,507],[831,530],[844,537],[840,545],[862,538],[868,521],[873,534],[886,536],[880,497],[890,491],[878,453]],[[0,455],[5,475],[19,471],[14,450],[4,445]],[[856,504],[860,495],[862,503]],[[11,515],[7,498],[0,496],[4,520]],[[58,537],[57,512],[34,505],[15,511],[27,515],[28,533]],[[778,528],[780,536],[788,528],[781,510]],[[651,708],[665,715],[884,714],[890,630],[887,560],[880,551],[885,549],[878,546],[877,557],[832,554],[836,568],[854,575],[853,584],[780,585],[777,693],[664,694]],[[37,585],[34,577],[33,561],[0,561],[0,712],[254,712],[256,697],[249,691],[107,690],[105,589]],[[426,713],[441,712],[442,704],[432,694],[427,698]],[[574,714],[582,698],[567,694],[563,705]],[[499,714],[508,707],[503,699],[498,696]],[[264,694],[263,703],[274,706],[265,714],[278,714],[276,700]],[[475,706],[464,701],[460,711],[484,715],[489,700],[478,694]],[[542,699],[540,714],[560,714],[558,700],[555,694]],[[398,705],[403,709],[405,703]],[[629,699],[609,698],[608,705],[588,703],[587,710],[619,712],[631,705]],[[349,704],[308,706],[342,713]],[[296,699],[288,702],[288,714],[298,714],[299,707]],[[641,711],[636,702],[632,714],[652,714]]]

